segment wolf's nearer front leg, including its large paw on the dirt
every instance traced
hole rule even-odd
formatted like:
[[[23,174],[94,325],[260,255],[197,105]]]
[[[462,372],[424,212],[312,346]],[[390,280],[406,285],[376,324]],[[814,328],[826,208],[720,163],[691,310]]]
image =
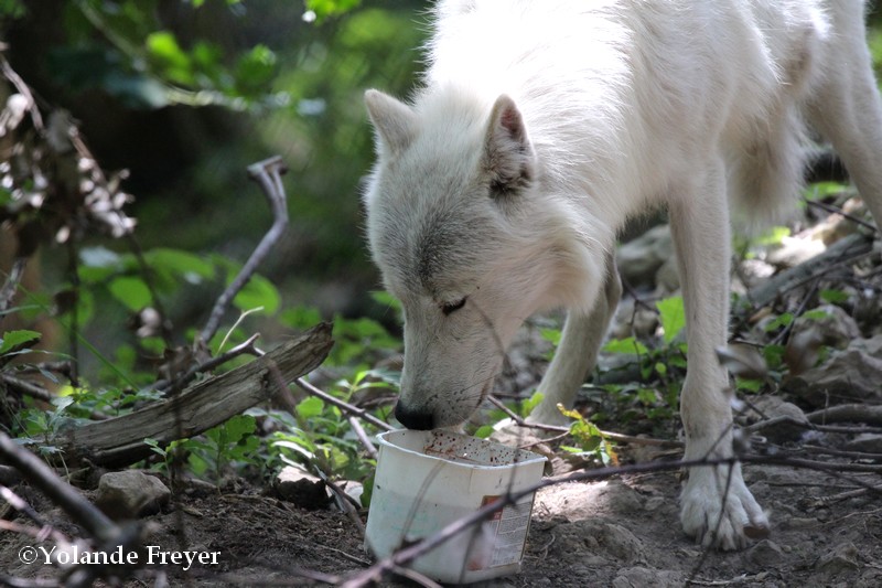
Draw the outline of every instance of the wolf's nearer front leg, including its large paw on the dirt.
[[[716,357],[729,321],[729,210],[722,159],[710,162],[703,181],[669,206],[689,343],[680,397],[687,460],[730,458],[732,408],[728,377]],[[702,466],[687,472],[680,496],[684,531],[704,546],[738,549],[768,528],[741,466]]]

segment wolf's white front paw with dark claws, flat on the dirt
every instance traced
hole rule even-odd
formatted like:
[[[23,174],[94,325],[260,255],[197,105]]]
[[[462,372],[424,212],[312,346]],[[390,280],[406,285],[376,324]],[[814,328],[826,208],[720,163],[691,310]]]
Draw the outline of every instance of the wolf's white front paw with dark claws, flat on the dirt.
[[[768,536],[768,518],[741,477],[741,468],[701,467],[689,471],[680,495],[680,522],[704,547],[743,549]]]

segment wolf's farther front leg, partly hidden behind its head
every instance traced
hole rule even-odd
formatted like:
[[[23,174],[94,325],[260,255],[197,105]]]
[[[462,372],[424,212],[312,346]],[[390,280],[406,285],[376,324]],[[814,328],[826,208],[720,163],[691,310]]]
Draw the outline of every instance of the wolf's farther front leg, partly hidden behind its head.
[[[615,256],[606,256],[606,278],[603,291],[588,314],[570,311],[563,325],[560,345],[551,365],[539,384],[545,397],[527,419],[545,425],[567,425],[569,419],[558,404],[570,407],[585,376],[594,368],[603,338],[622,298],[622,280],[615,267]]]

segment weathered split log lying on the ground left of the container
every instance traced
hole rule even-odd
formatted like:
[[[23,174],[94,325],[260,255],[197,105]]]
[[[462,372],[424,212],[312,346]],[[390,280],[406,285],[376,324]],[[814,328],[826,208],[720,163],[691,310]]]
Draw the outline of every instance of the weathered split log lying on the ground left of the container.
[[[319,324],[243,366],[190,386],[140,410],[65,430],[54,442],[66,459],[119,468],[150,456],[146,438],[160,447],[198,435],[272,397],[316,368],[334,344],[331,325]]]

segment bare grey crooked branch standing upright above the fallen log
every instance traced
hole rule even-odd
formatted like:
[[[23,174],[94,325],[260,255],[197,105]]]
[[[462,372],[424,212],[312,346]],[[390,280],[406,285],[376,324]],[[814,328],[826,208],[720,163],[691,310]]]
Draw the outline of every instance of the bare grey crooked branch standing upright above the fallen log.
[[[288,202],[281,181],[281,174],[284,171],[284,164],[280,157],[266,159],[248,167],[248,174],[260,184],[263,194],[269,201],[273,217],[272,226],[263,235],[263,238],[251,253],[248,261],[245,263],[236,278],[217,298],[208,321],[200,332],[198,340],[202,342],[207,343],[211,341],[235,296],[251,279],[251,276],[257,271],[257,267],[288,229]]]

